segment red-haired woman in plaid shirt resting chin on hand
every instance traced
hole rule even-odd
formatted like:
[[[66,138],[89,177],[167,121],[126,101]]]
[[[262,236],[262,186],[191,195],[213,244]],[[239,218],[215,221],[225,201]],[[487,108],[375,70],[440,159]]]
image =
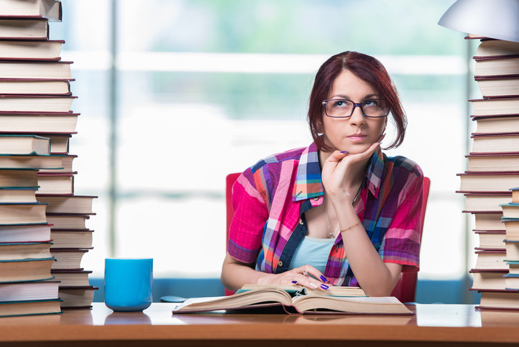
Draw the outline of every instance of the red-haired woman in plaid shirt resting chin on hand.
[[[313,143],[262,159],[233,186],[221,281],[360,286],[389,296],[417,271],[424,175],[379,147],[388,116],[406,130],[397,90],[374,57],[343,52],[320,67],[309,101]]]

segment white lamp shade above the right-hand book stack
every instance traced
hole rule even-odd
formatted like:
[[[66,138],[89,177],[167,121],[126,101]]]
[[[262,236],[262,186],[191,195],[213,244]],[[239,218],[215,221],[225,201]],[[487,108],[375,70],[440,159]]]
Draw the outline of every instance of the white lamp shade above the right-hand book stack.
[[[463,33],[519,42],[519,0],[457,0],[438,24]]]

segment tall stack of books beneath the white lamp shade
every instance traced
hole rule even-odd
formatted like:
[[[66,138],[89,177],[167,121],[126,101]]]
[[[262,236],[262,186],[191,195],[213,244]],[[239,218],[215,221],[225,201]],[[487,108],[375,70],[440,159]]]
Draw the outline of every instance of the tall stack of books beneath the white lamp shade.
[[[501,206],[511,202],[511,187],[519,186],[519,43],[467,38],[481,40],[473,58],[482,98],[469,100],[476,130],[467,170],[458,174],[458,193],[465,196],[464,212],[475,217],[473,231],[480,240],[470,290],[480,292],[479,308],[496,308],[505,298],[519,300],[519,291],[510,290],[504,277],[509,247]]]

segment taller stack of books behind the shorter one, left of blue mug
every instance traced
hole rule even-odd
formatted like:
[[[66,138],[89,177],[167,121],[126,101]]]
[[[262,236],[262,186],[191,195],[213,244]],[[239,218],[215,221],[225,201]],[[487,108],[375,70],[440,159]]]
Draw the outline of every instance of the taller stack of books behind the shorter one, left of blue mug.
[[[69,140],[76,134],[78,113],[71,111],[71,64],[61,60],[63,40],[49,39],[48,21],[62,20],[60,0],[0,0],[0,132],[3,136],[46,139],[48,157],[60,165],[35,173],[35,202],[46,206],[44,222],[52,240],[49,277],[59,281],[61,308],[91,307],[95,287],[81,267],[92,248],[86,220],[91,196],[74,194]],[[50,227],[49,227],[50,226]],[[82,281],[78,281],[80,276]]]

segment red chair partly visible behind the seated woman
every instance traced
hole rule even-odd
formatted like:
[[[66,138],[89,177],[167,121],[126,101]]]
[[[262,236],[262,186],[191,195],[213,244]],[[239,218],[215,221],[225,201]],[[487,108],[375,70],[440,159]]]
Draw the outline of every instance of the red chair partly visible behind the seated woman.
[[[233,210],[233,204],[231,197],[233,196],[233,184],[238,178],[239,173],[231,173],[226,177],[226,210],[227,210],[227,239],[229,239],[230,222],[233,220],[235,211]],[[424,220],[426,217],[427,200],[429,197],[429,186],[430,179],[424,177],[424,207],[421,210],[421,226],[420,238],[424,229]],[[396,296],[403,303],[410,303],[415,301],[415,293],[417,290],[417,272],[402,272],[399,277],[397,285],[394,287],[392,296]],[[225,290],[226,295],[231,295],[234,292]]]

